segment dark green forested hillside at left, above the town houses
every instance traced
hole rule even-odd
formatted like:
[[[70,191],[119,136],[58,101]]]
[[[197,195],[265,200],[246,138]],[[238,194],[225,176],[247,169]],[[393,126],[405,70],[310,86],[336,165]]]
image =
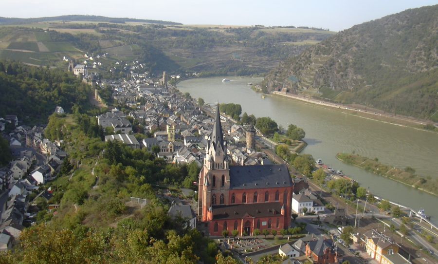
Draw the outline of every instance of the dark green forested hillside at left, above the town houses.
[[[70,112],[73,104],[87,104],[90,92],[86,84],[63,69],[0,61],[0,116],[17,114],[26,124],[46,123],[56,106]]]

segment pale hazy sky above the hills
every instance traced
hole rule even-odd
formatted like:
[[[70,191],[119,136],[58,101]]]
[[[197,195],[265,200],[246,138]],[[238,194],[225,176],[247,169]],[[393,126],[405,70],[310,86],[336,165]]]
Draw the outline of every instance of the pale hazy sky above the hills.
[[[0,17],[99,15],[183,24],[347,29],[438,0],[0,0]]]

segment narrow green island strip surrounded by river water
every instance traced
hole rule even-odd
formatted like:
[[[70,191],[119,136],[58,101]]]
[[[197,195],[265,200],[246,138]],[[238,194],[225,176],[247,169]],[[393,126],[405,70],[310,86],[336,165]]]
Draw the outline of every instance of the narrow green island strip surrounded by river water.
[[[336,158],[344,163],[354,165],[373,172],[404,185],[438,196],[438,180],[415,174],[415,170],[406,167],[404,170],[384,165],[376,159],[370,159],[357,154],[338,153]]]

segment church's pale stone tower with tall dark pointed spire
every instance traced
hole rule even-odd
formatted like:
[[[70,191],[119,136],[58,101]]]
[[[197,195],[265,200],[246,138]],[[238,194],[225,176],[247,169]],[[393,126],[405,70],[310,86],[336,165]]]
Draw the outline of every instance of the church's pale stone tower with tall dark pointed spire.
[[[220,123],[219,105],[216,108],[216,119],[213,132],[208,141],[204,165],[199,173],[198,215],[201,221],[207,221],[208,208],[219,204],[219,195],[225,197],[228,204],[230,189],[230,161],[227,158],[227,142],[223,140]],[[216,199],[213,199],[216,197]]]

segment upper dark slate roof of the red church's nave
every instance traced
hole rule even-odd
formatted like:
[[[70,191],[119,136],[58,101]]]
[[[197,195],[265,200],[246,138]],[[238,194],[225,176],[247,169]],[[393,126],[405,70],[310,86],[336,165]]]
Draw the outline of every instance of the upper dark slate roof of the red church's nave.
[[[230,189],[292,187],[285,164],[230,166]]]

